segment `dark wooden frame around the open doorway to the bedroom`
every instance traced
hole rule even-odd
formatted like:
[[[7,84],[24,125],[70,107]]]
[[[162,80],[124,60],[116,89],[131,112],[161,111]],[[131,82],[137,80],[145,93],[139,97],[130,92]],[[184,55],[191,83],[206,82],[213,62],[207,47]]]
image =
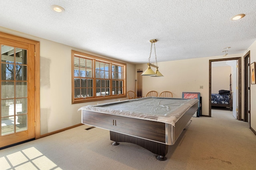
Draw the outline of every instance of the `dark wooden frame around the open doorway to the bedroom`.
[[[241,83],[241,79],[242,79],[242,69],[241,69],[241,57],[234,57],[234,58],[225,58],[225,59],[214,59],[214,60],[209,60],[209,116],[208,117],[212,117],[212,62],[215,61],[229,61],[229,60],[238,60],[238,120],[242,120],[242,100],[241,100],[241,96],[242,96],[242,83]],[[234,106],[233,106],[234,109]],[[236,108],[235,108],[236,109]]]

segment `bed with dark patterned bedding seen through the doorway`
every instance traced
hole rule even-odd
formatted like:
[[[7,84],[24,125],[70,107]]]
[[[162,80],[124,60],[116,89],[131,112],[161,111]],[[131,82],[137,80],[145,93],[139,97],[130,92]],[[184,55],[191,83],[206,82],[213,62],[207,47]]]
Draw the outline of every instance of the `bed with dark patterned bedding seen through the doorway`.
[[[232,86],[231,85],[232,84],[231,84],[231,74],[230,74],[230,90],[219,90],[218,94],[212,94],[211,106],[229,107],[230,111],[233,110]]]

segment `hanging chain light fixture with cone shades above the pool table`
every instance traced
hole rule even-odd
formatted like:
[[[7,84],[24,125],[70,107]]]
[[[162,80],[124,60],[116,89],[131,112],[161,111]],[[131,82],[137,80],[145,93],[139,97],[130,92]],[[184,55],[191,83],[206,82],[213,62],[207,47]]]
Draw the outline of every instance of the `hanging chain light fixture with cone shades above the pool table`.
[[[149,55],[149,58],[148,58],[148,68],[141,74],[142,76],[152,76],[152,77],[162,77],[163,74],[161,74],[158,70],[158,66],[157,66],[157,60],[156,60],[156,65],[154,64],[150,64],[150,58],[151,58],[151,53],[152,53],[152,45],[154,43],[154,50],[155,50],[155,57],[156,57],[156,46],[155,46],[155,43],[156,43],[156,39],[151,39],[150,40],[151,42],[151,48],[150,48],[150,55]],[[156,68],[156,72],[154,72],[151,67],[154,67]]]

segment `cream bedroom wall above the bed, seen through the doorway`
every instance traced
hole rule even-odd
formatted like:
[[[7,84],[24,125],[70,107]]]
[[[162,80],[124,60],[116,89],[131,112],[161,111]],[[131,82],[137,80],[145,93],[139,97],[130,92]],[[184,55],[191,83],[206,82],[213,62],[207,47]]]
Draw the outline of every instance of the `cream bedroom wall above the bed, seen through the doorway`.
[[[218,94],[219,90],[230,90],[231,66],[212,67],[212,93]]]

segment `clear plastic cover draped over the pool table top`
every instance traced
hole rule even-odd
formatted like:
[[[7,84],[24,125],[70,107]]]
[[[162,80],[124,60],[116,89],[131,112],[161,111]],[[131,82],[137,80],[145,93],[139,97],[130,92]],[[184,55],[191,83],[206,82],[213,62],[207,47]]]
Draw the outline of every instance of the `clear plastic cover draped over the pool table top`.
[[[175,126],[180,117],[196,103],[198,103],[197,99],[146,97],[107,104],[88,105],[81,107],[78,111],[88,110],[136,117]]]

